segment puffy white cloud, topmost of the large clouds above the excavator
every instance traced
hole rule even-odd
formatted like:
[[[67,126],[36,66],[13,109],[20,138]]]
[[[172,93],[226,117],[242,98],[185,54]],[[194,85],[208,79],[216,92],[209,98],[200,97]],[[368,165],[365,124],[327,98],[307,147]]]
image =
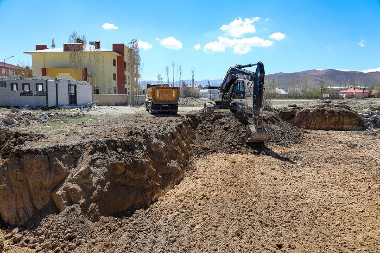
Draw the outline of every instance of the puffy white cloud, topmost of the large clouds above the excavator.
[[[228,25],[222,25],[220,30],[227,32],[228,35],[239,38],[245,33],[255,33],[256,28],[252,23],[259,19],[260,17],[252,17],[252,19],[244,19],[243,21],[241,17],[239,17]]]

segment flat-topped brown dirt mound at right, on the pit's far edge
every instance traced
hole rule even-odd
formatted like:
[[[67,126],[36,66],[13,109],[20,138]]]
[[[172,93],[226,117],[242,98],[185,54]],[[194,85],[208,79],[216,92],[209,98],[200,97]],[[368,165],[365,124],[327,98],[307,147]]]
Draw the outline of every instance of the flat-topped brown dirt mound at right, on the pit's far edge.
[[[314,108],[280,109],[283,120],[293,126],[313,130],[362,130],[364,119],[344,104],[324,103]]]

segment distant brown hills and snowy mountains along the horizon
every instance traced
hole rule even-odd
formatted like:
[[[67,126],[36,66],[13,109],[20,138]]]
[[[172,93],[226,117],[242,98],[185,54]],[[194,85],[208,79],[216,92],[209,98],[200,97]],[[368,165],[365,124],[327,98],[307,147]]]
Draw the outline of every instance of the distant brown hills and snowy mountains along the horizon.
[[[310,86],[318,87],[322,84],[323,86],[345,86],[350,84],[355,84],[359,82],[359,86],[370,87],[372,85],[377,85],[380,82],[380,68],[357,71],[357,70],[306,70],[294,73],[273,73],[266,74],[266,82],[275,78],[279,82],[279,86],[282,89],[286,89],[289,83],[301,83],[305,77],[309,82]],[[224,77],[218,79],[203,79],[194,81],[197,85],[202,85],[207,87],[208,82],[212,86],[220,85]],[[191,84],[192,80],[181,80],[187,84]],[[155,83],[157,81],[144,81],[148,83]],[[170,82],[172,84],[173,82]]]

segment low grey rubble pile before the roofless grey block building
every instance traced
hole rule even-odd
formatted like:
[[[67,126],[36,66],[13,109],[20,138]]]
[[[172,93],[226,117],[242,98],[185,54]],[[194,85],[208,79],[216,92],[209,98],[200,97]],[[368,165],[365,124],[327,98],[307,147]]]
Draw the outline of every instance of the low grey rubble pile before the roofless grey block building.
[[[39,111],[30,109],[12,108],[9,113],[0,115],[0,129],[12,128],[16,126],[29,126],[44,124],[46,122],[62,121],[68,118],[86,117],[84,113],[60,113],[55,111]]]

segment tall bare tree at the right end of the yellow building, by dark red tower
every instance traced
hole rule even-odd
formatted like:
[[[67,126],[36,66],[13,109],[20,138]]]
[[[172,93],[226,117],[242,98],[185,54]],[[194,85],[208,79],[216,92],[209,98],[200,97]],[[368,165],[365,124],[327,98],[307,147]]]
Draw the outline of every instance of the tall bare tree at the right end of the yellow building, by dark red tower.
[[[127,70],[131,76],[131,84],[130,84],[130,95],[129,95],[129,104],[130,106],[136,105],[136,98],[137,98],[137,92],[136,92],[136,85],[138,84],[138,78],[139,78],[139,65],[140,65],[140,48],[137,43],[136,39],[132,39],[131,42],[128,44],[128,50],[127,53],[127,59],[129,66],[129,70]]]

